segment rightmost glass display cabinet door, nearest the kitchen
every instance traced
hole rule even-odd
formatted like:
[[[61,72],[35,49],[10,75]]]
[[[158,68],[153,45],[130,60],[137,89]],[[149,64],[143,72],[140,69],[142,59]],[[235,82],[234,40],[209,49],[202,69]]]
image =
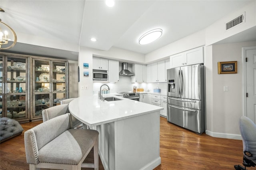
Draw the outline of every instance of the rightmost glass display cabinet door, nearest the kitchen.
[[[52,61],[52,101],[60,105],[66,99],[66,62]]]

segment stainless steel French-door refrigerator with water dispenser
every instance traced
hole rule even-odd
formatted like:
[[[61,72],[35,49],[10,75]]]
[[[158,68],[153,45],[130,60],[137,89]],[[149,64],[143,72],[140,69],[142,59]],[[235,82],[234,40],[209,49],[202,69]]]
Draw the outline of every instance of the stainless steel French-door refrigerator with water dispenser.
[[[204,132],[204,65],[167,70],[167,121]]]

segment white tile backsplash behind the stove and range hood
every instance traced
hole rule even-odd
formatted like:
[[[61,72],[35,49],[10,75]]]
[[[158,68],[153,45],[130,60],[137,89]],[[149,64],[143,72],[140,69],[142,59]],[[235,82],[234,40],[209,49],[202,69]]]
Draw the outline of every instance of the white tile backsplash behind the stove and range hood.
[[[98,94],[100,91],[100,86],[107,84],[110,87],[110,93],[116,93],[117,91],[132,91],[133,86],[138,88],[143,88],[145,90],[153,91],[153,89],[161,89],[161,93],[167,93],[167,84],[166,83],[131,83],[130,76],[119,76],[118,83],[103,83],[103,82],[94,82],[93,83],[93,92]],[[107,88],[102,86],[102,89]]]

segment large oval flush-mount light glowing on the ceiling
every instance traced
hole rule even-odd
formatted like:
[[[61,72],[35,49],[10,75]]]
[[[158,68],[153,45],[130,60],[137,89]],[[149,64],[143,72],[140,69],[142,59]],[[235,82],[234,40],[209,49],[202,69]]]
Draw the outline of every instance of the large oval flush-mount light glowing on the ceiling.
[[[160,28],[146,32],[139,38],[139,44],[144,45],[157,40],[162,36],[162,32],[163,30]]]

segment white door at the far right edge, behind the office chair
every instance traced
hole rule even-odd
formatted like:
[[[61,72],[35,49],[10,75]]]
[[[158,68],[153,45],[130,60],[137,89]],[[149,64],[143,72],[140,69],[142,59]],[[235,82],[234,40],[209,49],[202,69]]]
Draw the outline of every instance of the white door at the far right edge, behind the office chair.
[[[246,111],[247,117],[256,123],[256,47],[246,50]]]

